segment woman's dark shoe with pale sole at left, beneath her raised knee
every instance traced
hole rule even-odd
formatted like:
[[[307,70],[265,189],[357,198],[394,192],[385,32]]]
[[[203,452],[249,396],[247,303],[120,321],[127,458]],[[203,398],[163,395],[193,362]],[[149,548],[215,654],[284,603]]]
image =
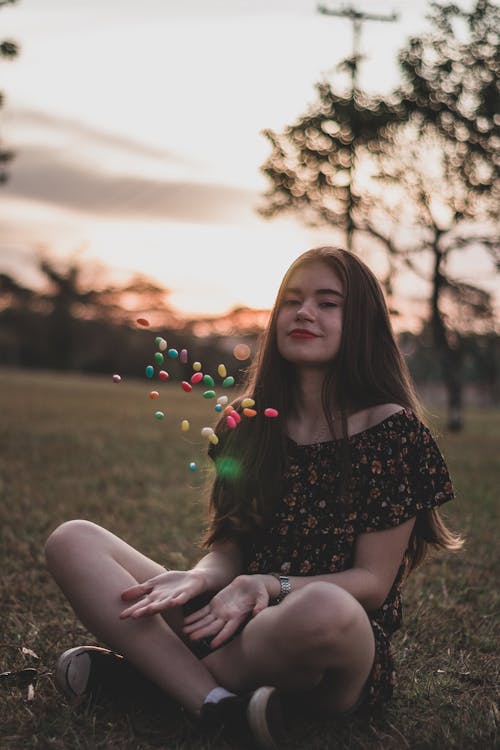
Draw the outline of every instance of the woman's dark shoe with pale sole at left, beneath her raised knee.
[[[55,682],[59,690],[72,702],[95,699],[106,694],[124,699],[135,696],[163,698],[123,656],[99,646],[76,646],[65,651],[56,664]]]

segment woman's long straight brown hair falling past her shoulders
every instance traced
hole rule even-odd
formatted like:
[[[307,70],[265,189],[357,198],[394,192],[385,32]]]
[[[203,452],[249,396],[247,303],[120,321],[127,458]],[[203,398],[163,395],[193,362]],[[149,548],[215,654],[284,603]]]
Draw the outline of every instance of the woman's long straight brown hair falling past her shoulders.
[[[205,545],[233,537],[244,540],[269,519],[282,491],[287,465],[285,425],[295,399],[294,368],[280,354],[277,319],[292,275],[321,261],[342,282],[344,293],[340,348],[322,387],[322,405],[333,429],[333,407],[340,408],[343,431],[343,486],[348,486],[347,415],[384,403],[397,403],[422,417],[404,357],[396,343],[382,288],[368,266],[353,253],[316,247],[300,255],[281,282],[259,353],[247,374],[243,392],[255,400],[257,415],[236,430],[217,426],[220,446],[212,448],[216,478],[210,494],[210,525]],[[239,401],[234,403],[238,407]],[[280,419],[267,419],[264,409],[276,408]],[[437,511],[419,520],[410,544],[410,567],[423,559],[427,545],[455,548],[459,540],[444,526]]]

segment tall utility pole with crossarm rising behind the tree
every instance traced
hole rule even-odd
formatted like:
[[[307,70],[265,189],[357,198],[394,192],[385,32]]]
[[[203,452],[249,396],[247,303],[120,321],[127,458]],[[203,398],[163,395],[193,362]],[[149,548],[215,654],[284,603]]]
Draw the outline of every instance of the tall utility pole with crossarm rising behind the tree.
[[[352,22],[352,55],[351,57],[343,60],[340,65],[348,68],[351,71],[351,101],[354,105],[356,92],[358,88],[358,69],[359,62],[361,60],[360,41],[361,41],[361,27],[364,21],[383,21],[383,22],[394,22],[398,20],[397,13],[392,13],[390,16],[382,16],[378,13],[363,13],[362,11],[356,10],[352,5],[342,7],[340,10],[332,10],[326,5],[319,4],[317,7],[319,13],[325,16],[337,16],[339,18],[349,18]],[[353,212],[356,203],[356,197],[353,190],[354,182],[354,168],[355,168],[355,140],[354,138],[349,144],[350,159],[349,167],[347,169],[349,174],[348,179],[348,200],[347,200],[347,221],[346,221],[346,244],[347,249],[352,250],[352,236],[354,233],[354,220]]]

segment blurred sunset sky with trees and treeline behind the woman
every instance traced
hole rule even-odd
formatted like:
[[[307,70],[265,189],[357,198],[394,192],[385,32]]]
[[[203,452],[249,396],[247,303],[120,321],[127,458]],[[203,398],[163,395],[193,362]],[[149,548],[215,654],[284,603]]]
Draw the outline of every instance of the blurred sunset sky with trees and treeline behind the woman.
[[[141,376],[143,316],[216,367],[300,252],[341,244],[450,429],[498,405],[499,20],[0,0],[0,364]]]

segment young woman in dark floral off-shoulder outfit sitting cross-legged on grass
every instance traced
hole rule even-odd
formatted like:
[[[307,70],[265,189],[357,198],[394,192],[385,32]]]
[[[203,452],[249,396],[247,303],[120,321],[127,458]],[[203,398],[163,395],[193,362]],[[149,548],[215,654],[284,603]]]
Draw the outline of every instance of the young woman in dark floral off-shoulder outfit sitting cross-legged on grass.
[[[355,255],[292,264],[245,395],[257,415],[219,422],[208,551],[191,570],[87,521],[49,537],[52,575],[114,650],[66,651],[56,681],[88,695],[131,664],[200,728],[275,748],[283,701],[341,717],[390,698],[403,579],[429,544],[461,541],[437,510],[450,478],[381,287]]]

